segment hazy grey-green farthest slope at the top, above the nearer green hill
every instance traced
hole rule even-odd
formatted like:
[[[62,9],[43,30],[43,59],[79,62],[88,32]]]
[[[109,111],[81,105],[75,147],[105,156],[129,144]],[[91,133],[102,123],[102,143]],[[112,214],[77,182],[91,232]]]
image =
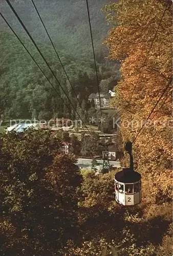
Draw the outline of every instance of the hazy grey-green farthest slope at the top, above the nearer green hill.
[[[28,0],[13,0],[11,3],[34,39],[42,44],[51,46],[32,2]],[[64,50],[78,59],[81,59],[81,54],[82,57],[92,54],[85,0],[35,0],[34,3],[59,51]],[[105,16],[101,12],[101,8],[108,3],[109,0],[89,1],[93,39],[98,52],[100,51],[102,40],[111,27],[111,25],[107,25]],[[17,32],[21,35],[26,35],[5,1],[2,1],[2,12]],[[6,29],[7,25],[2,23],[1,27]]]

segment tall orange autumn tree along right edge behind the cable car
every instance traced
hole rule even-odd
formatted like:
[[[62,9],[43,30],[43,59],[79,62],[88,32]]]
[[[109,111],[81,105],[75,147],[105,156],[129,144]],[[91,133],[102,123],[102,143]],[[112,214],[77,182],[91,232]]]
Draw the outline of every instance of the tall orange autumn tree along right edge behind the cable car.
[[[110,23],[104,44],[121,62],[113,106],[121,110],[123,141],[134,141],[135,166],[143,174],[147,202],[171,200],[172,2],[125,0],[103,9]],[[129,112],[130,111],[130,112]]]

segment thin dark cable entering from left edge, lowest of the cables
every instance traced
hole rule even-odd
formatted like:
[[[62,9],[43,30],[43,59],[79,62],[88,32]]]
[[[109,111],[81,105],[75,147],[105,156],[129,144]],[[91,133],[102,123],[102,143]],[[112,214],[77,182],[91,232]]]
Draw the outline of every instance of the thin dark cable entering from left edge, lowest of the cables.
[[[40,68],[40,66],[38,65],[38,63],[36,62],[36,60],[33,58],[33,56],[31,55],[31,53],[28,51],[28,49],[26,48],[26,46],[23,44],[23,42],[20,40],[20,38],[18,37],[18,35],[15,33],[15,31],[12,29],[12,27],[10,26],[10,24],[7,22],[6,18],[3,16],[3,14],[0,12],[0,15],[2,16],[2,18],[4,19],[4,21],[6,22],[6,24],[9,26],[9,28],[11,29],[11,31],[14,33],[14,35],[17,37],[17,39],[19,40],[20,44],[25,48],[25,50],[27,51],[27,53],[30,55],[30,57],[32,58],[32,60],[35,62],[36,66],[39,68],[39,70],[41,71],[41,73],[46,77],[46,79],[48,80],[48,82],[51,84],[52,88],[55,90],[55,92],[57,93],[57,95],[59,96],[59,98],[62,100],[62,102],[64,103],[64,105],[66,105],[67,109],[69,109],[69,106],[66,104],[66,102],[64,102],[63,98],[60,96],[60,94],[58,93],[58,91],[56,90],[56,88],[53,86],[52,82],[49,80],[48,76],[44,73],[44,71],[42,71],[42,69]],[[72,114],[73,115],[73,114]],[[75,115],[73,115],[73,117],[75,118]]]

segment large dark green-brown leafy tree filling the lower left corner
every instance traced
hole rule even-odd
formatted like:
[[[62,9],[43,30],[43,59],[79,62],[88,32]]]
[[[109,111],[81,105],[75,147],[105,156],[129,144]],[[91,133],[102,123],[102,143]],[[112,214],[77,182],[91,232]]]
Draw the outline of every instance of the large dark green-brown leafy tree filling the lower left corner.
[[[78,167],[47,130],[3,135],[2,255],[55,255],[77,225]]]

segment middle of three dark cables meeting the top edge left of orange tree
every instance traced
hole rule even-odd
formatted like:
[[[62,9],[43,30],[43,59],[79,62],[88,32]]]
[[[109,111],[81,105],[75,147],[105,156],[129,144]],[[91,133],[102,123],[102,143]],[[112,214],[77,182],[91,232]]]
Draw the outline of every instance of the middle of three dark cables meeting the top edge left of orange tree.
[[[69,76],[68,76],[66,70],[65,70],[64,67],[63,67],[63,64],[62,64],[61,59],[60,59],[60,57],[59,57],[59,55],[58,55],[58,53],[57,53],[57,50],[56,50],[56,48],[55,48],[55,45],[54,45],[54,43],[53,43],[53,41],[52,41],[52,39],[51,39],[51,37],[50,37],[50,35],[49,35],[49,33],[48,33],[48,30],[47,30],[47,28],[46,28],[46,26],[45,26],[45,24],[44,24],[44,22],[43,22],[43,20],[42,20],[42,18],[41,18],[41,16],[40,16],[39,12],[38,12],[38,9],[37,9],[37,7],[35,6],[34,1],[31,0],[31,2],[32,2],[33,6],[34,6],[34,8],[35,8],[35,10],[36,10],[36,12],[37,12],[37,15],[39,16],[39,19],[40,19],[40,21],[41,21],[41,23],[42,23],[42,26],[44,26],[44,29],[45,29],[45,31],[46,31],[48,37],[49,37],[49,40],[51,41],[51,44],[52,44],[53,49],[54,49],[54,51],[55,51],[55,53],[56,53],[56,56],[57,56],[57,58],[58,58],[58,60],[59,60],[59,62],[60,62],[60,64],[61,64],[61,66],[62,66],[62,69],[63,69],[64,73],[65,73],[66,76],[67,76],[67,79],[68,79],[68,81],[69,81],[69,83],[70,83],[70,86],[71,86],[71,88],[72,88],[72,90],[73,90],[73,92],[74,92],[74,94],[75,94],[75,97],[76,97],[78,103],[79,103],[79,106],[80,106],[80,108],[81,108],[81,110],[82,110],[82,112],[83,112],[83,114],[84,114],[84,116],[85,116],[87,122],[90,123],[89,120],[88,120],[88,118],[87,118],[87,116],[86,116],[85,113],[84,113],[84,110],[82,109],[82,106],[81,106],[81,104],[80,104],[80,101],[79,101],[79,99],[78,99],[78,97],[77,97],[77,95],[76,95],[76,92],[75,92],[75,90],[74,90],[74,88],[73,88],[73,86],[72,86],[72,84],[71,84],[71,82],[70,82]]]

